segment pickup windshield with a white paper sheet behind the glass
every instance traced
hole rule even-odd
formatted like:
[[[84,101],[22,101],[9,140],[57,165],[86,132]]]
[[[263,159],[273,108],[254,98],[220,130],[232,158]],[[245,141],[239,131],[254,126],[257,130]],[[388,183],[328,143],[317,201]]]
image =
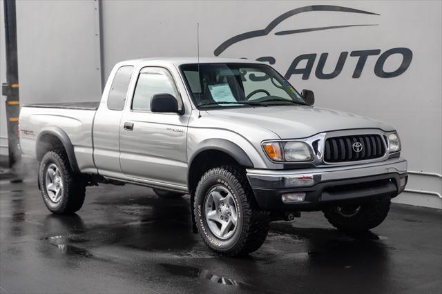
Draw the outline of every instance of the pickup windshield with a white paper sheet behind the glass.
[[[195,63],[180,69],[198,108],[305,105],[295,88],[264,64]]]

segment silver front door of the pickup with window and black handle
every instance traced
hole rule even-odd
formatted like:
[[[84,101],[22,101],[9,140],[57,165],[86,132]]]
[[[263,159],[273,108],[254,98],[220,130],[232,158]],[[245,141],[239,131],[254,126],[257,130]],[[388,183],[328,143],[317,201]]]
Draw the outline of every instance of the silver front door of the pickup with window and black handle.
[[[132,103],[119,128],[120,164],[127,177],[146,184],[186,189],[186,136],[189,113],[151,112],[155,94],[171,94],[183,107],[171,72],[166,68],[140,70]]]

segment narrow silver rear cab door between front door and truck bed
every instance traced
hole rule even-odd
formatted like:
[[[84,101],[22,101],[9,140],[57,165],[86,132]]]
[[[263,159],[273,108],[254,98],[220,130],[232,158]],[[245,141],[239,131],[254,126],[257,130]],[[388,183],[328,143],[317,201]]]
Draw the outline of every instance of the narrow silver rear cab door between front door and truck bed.
[[[133,66],[122,66],[116,70],[111,87],[106,86],[104,89],[104,98],[95,114],[94,162],[99,175],[122,177],[119,166],[119,121],[122,118],[133,69]],[[107,99],[106,91],[108,91]]]

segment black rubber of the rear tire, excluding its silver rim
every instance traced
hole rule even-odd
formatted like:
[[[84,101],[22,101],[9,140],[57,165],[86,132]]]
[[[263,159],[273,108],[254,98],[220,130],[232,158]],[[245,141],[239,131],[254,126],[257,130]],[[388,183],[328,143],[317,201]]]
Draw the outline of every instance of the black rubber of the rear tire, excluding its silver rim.
[[[46,171],[50,164],[55,164],[61,174],[63,192],[59,202],[52,202],[46,190]],[[68,155],[63,149],[50,150],[41,159],[39,165],[39,186],[46,207],[57,215],[75,213],[81,208],[86,195],[86,184],[81,176],[74,175],[70,168]]]

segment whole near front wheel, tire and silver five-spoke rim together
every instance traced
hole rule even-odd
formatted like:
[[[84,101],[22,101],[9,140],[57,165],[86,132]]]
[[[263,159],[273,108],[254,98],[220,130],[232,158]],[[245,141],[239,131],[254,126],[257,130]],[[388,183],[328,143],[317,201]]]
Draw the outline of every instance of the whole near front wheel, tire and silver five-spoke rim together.
[[[204,243],[234,256],[256,251],[267,237],[267,213],[256,206],[244,172],[233,166],[208,170],[198,182],[195,223]]]

